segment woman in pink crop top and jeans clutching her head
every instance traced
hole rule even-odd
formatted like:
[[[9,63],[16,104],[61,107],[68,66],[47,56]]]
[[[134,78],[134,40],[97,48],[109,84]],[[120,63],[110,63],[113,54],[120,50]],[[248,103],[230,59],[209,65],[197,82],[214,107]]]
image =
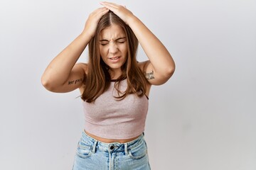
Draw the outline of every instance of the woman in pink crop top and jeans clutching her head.
[[[164,84],[175,64],[166,47],[124,6],[102,2],[82,33],[46,68],[49,91],[80,89],[85,130],[73,169],[150,169],[144,126],[151,85]],[[138,43],[149,60],[137,62]],[[76,64],[85,47],[88,63]]]

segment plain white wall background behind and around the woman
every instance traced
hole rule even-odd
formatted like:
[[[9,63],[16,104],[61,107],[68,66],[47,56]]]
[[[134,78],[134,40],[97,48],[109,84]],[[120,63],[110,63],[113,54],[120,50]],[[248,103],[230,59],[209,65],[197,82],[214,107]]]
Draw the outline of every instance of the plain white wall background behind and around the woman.
[[[256,169],[256,1],[116,1],[166,45],[174,76],[149,96],[152,169]],[[50,60],[99,1],[0,2],[0,169],[72,169],[83,128],[78,91],[41,86]],[[157,56],[156,56],[157,57]],[[80,62],[87,60],[87,52]],[[139,50],[138,60],[146,60]]]

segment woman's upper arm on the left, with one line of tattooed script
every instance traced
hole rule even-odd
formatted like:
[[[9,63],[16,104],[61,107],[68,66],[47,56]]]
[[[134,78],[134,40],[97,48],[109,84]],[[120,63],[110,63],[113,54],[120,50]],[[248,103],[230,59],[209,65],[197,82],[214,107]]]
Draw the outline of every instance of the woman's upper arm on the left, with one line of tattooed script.
[[[68,76],[68,79],[58,86],[58,88],[54,89],[53,92],[65,93],[80,88],[82,86],[82,81],[85,79],[86,72],[87,64],[75,64]]]

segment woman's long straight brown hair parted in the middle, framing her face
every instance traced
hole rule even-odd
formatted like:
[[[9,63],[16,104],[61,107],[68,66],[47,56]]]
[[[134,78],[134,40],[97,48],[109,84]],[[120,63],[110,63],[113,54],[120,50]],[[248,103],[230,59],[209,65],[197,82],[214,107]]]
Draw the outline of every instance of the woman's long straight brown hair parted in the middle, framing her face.
[[[89,61],[88,72],[85,77],[85,91],[82,93],[82,100],[91,103],[96,100],[102,93],[110,87],[110,73],[109,67],[100,57],[100,32],[111,24],[121,26],[127,37],[127,61],[122,65],[122,75],[119,79],[127,79],[127,90],[119,91],[119,81],[114,84],[119,96],[117,99],[122,100],[128,94],[137,94],[141,97],[146,93],[146,78],[142,70],[137,65],[137,49],[139,41],[134,35],[133,31],[127,26],[121,18],[115,15],[112,11],[108,12],[100,19],[95,36],[90,40],[89,48]]]

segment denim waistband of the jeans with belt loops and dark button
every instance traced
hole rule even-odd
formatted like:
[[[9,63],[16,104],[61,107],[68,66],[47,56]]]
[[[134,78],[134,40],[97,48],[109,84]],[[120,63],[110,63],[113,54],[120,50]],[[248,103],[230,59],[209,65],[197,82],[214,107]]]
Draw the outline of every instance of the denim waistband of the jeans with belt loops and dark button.
[[[92,145],[93,153],[95,153],[96,149],[98,149],[103,152],[125,152],[125,154],[128,154],[129,149],[137,147],[137,145],[144,142],[144,132],[135,140],[132,140],[127,143],[119,143],[119,142],[105,143],[105,142],[100,142],[98,140],[95,140],[93,137],[90,137],[84,131],[82,131],[81,140],[82,142],[85,142],[88,145]]]

